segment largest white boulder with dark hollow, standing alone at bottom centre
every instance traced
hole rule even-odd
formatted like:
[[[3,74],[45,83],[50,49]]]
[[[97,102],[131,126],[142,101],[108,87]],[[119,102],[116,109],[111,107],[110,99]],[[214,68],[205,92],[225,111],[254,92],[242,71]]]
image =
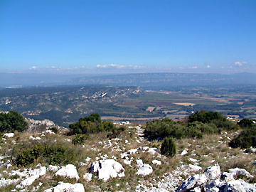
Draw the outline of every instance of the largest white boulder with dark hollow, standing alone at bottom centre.
[[[90,165],[89,171],[96,173],[97,176],[104,181],[107,181],[110,177],[124,176],[122,164],[114,161],[114,159],[95,161]]]

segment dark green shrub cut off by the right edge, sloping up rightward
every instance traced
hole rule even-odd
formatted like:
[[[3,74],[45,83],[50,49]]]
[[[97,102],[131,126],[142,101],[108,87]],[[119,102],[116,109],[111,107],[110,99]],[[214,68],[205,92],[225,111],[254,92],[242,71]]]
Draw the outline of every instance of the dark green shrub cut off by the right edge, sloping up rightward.
[[[229,146],[233,148],[240,147],[241,149],[256,147],[256,126],[243,130],[238,137],[232,139]]]

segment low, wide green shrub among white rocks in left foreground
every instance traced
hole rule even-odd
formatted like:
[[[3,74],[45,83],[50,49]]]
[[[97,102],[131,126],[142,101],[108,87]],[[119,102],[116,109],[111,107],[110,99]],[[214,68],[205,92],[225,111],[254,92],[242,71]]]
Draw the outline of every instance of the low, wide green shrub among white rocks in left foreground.
[[[76,156],[75,151],[61,144],[36,144],[31,149],[22,149],[16,157],[17,166],[28,166],[42,158],[47,164],[70,164]]]

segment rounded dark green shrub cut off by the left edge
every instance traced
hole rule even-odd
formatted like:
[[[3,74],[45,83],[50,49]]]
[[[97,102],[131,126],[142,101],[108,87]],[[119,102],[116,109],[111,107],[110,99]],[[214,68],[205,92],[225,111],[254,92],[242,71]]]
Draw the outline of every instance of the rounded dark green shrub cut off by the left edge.
[[[28,124],[18,112],[0,113],[0,132],[23,132],[27,128]]]

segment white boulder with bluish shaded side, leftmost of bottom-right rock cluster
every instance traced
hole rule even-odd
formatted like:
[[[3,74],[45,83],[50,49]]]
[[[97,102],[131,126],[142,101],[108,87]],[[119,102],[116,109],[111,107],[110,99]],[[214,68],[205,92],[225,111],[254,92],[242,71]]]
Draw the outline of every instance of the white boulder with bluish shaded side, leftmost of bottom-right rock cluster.
[[[207,179],[205,174],[189,176],[178,188],[178,192],[188,191],[197,186],[203,186],[207,182]]]

